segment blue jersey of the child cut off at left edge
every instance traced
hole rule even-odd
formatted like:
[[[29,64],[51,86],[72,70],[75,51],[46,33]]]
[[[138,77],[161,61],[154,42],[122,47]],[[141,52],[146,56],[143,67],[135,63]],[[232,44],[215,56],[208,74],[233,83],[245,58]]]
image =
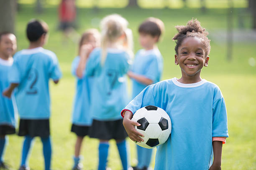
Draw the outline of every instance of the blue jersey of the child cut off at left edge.
[[[13,65],[13,59],[0,58],[0,125],[12,125],[15,127],[15,114],[12,99],[3,97],[2,93],[9,87],[8,73]]]

